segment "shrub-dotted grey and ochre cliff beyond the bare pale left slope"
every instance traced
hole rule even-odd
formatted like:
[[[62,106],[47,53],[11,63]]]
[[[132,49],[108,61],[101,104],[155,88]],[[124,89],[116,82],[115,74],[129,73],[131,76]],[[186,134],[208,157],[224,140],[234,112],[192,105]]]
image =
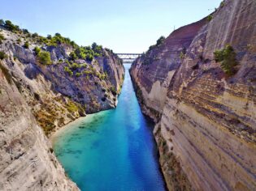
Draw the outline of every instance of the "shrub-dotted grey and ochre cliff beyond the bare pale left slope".
[[[47,46],[36,38],[28,38],[29,49],[25,49],[23,33],[14,33],[2,28],[5,40],[0,51],[7,54],[2,66],[11,73],[16,87],[32,108],[33,115],[46,134],[85,113],[115,108],[117,95],[124,78],[121,60],[108,49],[92,61],[73,59],[69,54],[75,51],[72,45]],[[50,53],[50,65],[38,62],[33,51]]]

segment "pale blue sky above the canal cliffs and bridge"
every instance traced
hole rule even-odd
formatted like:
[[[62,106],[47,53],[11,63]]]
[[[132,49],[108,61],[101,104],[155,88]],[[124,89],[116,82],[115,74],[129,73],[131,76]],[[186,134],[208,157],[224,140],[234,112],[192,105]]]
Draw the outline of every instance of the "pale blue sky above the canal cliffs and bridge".
[[[160,36],[196,22],[221,0],[0,0],[0,19],[37,32],[59,32],[78,45],[142,53]]]

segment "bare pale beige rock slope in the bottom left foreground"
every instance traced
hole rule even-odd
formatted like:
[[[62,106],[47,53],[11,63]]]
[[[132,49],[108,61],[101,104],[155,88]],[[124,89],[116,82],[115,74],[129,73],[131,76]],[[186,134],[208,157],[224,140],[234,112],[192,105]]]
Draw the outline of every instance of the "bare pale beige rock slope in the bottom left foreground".
[[[2,66],[0,90],[0,189],[78,190]]]

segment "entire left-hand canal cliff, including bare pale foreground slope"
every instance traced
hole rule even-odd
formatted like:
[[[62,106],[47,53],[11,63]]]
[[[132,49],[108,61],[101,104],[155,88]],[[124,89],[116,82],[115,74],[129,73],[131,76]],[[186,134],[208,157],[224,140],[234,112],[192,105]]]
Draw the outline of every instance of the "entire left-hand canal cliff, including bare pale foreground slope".
[[[71,59],[79,48],[0,29],[0,190],[77,190],[46,135],[86,113],[114,108],[124,66],[109,49]],[[50,65],[40,62],[35,47],[50,53]]]

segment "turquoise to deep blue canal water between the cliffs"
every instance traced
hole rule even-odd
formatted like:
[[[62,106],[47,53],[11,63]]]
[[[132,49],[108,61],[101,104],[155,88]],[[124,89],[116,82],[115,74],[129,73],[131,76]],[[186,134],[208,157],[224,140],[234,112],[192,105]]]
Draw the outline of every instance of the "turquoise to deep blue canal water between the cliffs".
[[[53,138],[55,154],[81,190],[165,189],[153,124],[141,113],[129,67],[117,108],[81,118]]]

